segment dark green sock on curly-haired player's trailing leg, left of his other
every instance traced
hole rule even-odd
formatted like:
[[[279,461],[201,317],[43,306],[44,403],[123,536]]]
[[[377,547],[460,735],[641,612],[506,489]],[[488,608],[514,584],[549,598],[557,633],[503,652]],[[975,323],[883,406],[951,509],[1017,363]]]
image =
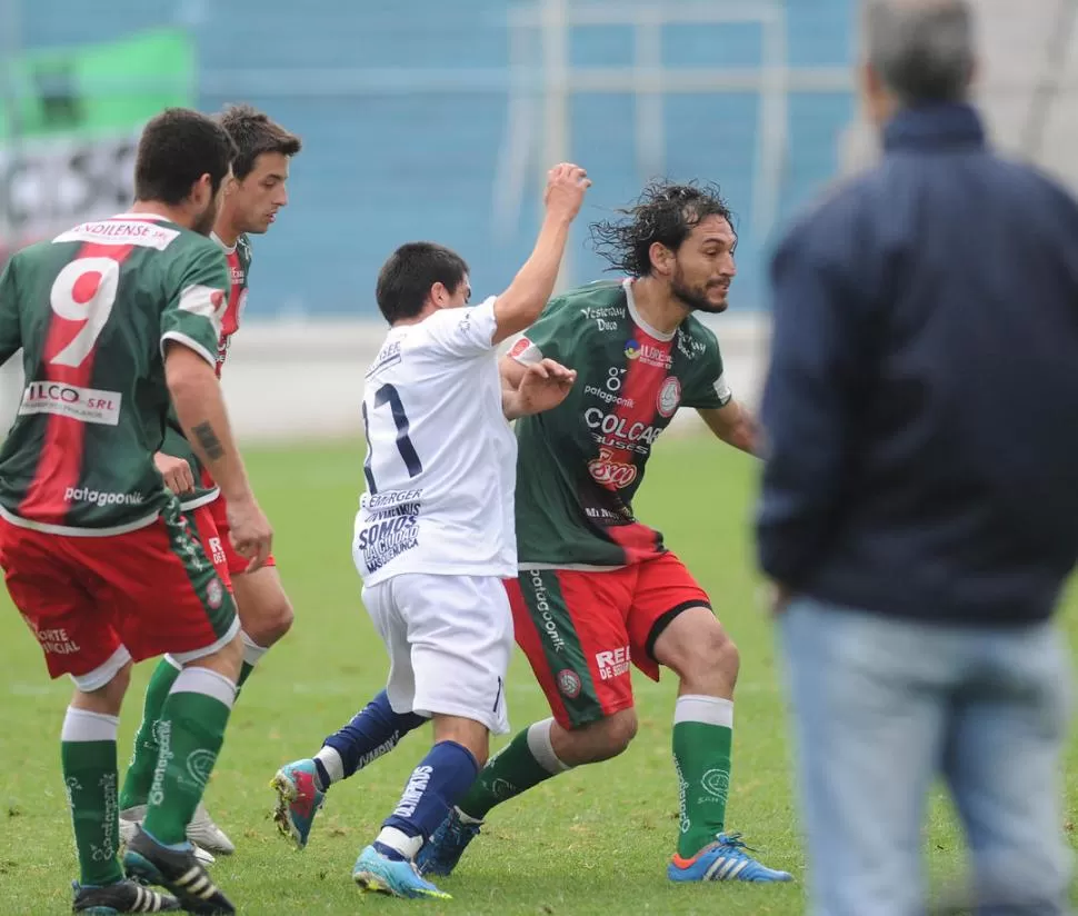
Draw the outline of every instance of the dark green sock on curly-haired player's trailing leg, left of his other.
[[[553,719],[528,726],[487,761],[457,807],[475,820],[482,820],[495,805],[538,786],[569,769],[550,744]]]

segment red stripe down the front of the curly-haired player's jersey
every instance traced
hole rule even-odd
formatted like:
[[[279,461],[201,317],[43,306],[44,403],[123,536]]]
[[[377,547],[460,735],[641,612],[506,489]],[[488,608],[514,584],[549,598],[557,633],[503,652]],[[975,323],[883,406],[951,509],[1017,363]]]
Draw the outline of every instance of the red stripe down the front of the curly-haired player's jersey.
[[[628,366],[619,392],[621,402],[613,410],[613,416],[618,418],[616,430],[621,435],[605,437],[603,448],[610,451],[613,461],[636,466],[636,459],[641,456],[631,445],[636,444],[638,448],[647,445],[648,440],[637,434],[650,435],[648,429],[653,426],[657,412],[656,399],[670,372],[673,341],[658,340],[639,327],[633,328],[633,333],[632,342],[637,344],[636,357],[629,356],[630,342],[627,341]],[[629,404],[632,406],[629,407]],[[625,445],[618,447],[618,441]],[[613,482],[602,486],[617,492]],[[658,548],[658,535],[640,522],[612,525],[607,534],[626,551],[628,562],[655,556]]]

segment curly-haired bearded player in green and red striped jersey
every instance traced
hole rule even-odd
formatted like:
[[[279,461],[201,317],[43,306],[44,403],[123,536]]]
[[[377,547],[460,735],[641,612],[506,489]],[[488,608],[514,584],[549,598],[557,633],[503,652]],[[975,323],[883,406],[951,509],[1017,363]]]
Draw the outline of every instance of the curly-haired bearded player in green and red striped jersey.
[[[557,408],[517,422],[519,578],[507,583],[516,639],[553,718],[535,723],[480,770],[419,852],[447,875],[496,805],[576,766],[621,754],[637,730],[630,667],[680,681],[673,759],[681,796],[676,882],[786,882],[725,832],[738,651],[707,594],[662,536],[632,514],[651,446],[679,407],[752,452],[757,427],[722,374],[719,346],[693,315],[722,312],[736,273],[730,211],[709,187],[658,183],[592,227],[623,280],[552,299],[502,361],[508,389],[545,358],[577,370]],[[361,717],[365,714],[361,714]],[[339,733],[320,757],[321,788],[392,746],[399,721]],[[308,825],[309,829],[309,825]]]

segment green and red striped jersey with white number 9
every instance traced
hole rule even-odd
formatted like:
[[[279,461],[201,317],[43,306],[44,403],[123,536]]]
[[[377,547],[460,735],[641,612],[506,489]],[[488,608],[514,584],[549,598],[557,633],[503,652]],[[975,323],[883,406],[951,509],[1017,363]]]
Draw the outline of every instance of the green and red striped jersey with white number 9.
[[[0,277],[0,361],[26,390],[0,449],[0,514],[56,534],[149,525],[171,498],[153,465],[170,409],[164,346],[217,365],[220,246],[163,217],[87,222],[20,251]]]

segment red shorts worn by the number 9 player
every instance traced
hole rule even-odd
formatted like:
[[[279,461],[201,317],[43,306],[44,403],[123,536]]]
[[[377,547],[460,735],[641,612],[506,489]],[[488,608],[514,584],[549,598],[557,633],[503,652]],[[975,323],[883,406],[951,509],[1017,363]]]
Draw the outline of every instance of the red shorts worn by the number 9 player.
[[[0,567],[49,674],[71,675],[82,690],[103,687],[128,658],[170,653],[184,661],[239,629],[226,584],[176,509],[108,537],[0,519]]]

